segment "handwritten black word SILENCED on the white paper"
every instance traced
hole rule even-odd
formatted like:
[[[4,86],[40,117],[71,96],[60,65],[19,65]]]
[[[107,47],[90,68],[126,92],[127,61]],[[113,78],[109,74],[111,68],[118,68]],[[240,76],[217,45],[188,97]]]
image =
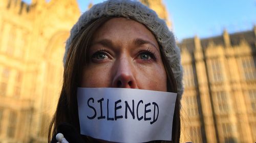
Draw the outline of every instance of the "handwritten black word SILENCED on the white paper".
[[[102,102],[104,102],[104,98],[101,98],[97,101],[99,103],[99,106],[100,106],[100,116],[97,117],[98,120],[100,119],[106,119],[106,120],[109,120],[109,121],[116,121],[118,119],[122,119],[123,116],[122,115],[117,115],[117,110],[120,110],[122,108],[122,106],[120,105],[121,104],[121,100],[117,100],[115,101],[115,106],[114,106],[114,112],[115,112],[115,116],[114,117],[109,117],[109,99],[106,100],[106,117],[103,116],[103,109],[102,109]],[[135,113],[135,104],[134,104],[134,100],[132,100],[132,105],[129,105],[127,101],[124,101],[124,108],[125,108],[125,111],[124,111],[124,118],[127,119],[127,114],[128,114],[128,110],[131,114],[131,116],[133,117],[133,119],[135,119],[135,115],[136,115],[136,119],[138,121],[140,120],[143,120],[144,121],[151,121],[150,124],[153,124],[157,121],[158,119],[158,115],[159,115],[159,107],[157,105],[157,103],[155,102],[152,102],[151,103],[147,103],[143,106],[143,100],[140,100],[137,104],[136,104],[136,113]],[[94,103],[94,98],[89,98],[88,101],[87,101],[87,105],[93,110],[94,112],[94,115],[93,116],[87,116],[88,119],[90,120],[93,120],[96,118],[97,116],[97,111],[95,109],[95,103]],[[151,112],[151,109],[148,109],[149,107],[148,106],[154,106],[154,113],[153,113],[153,117],[147,117],[146,115]],[[142,115],[139,115],[139,109],[141,110],[141,108],[144,109],[144,113]],[[105,109],[105,108],[104,108]],[[156,115],[156,110],[157,110],[157,115]],[[152,114],[151,114],[152,115]]]

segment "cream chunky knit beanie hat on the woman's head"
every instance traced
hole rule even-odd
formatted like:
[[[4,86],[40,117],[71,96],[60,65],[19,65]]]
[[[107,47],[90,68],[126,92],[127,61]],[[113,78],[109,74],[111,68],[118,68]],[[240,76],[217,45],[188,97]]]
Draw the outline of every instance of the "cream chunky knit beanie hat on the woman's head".
[[[164,20],[160,19],[156,12],[147,8],[137,1],[130,0],[109,0],[94,5],[90,10],[84,12],[76,24],[72,27],[70,37],[66,42],[66,51],[63,63],[66,63],[67,53],[71,42],[81,29],[92,20],[103,16],[126,17],[131,18],[139,23],[144,24],[150,30],[158,43],[161,45],[164,54],[167,57],[169,66],[171,67],[177,82],[178,97],[182,96],[182,66],[180,63],[180,49],[177,47],[175,37]]]

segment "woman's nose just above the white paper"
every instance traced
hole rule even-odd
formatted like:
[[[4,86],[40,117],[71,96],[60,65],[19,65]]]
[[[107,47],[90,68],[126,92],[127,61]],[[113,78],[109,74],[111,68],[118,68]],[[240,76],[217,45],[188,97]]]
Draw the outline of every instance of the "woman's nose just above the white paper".
[[[112,87],[138,89],[132,61],[122,58],[115,62]]]

